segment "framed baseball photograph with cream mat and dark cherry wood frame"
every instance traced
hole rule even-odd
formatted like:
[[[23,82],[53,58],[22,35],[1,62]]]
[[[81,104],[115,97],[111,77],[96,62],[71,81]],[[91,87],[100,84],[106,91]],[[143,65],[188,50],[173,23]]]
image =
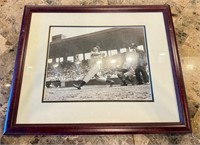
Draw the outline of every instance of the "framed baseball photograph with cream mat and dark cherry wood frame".
[[[4,134],[191,132],[170,6],[26,6]]]

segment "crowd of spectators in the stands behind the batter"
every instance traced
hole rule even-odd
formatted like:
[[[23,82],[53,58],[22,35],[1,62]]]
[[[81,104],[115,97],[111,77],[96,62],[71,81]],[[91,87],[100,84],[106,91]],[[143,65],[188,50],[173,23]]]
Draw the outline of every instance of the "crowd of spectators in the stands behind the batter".
[[[100,76],[117,78],[117,70],[116,67],[119,67],[118,64],[111,64],[110,58],[102,60],[102,68],[99,72]],[[76,62],[62,62],[57,65],[48,65],[46,81],[77,81],[82,80],[83,77],[89,71],[89,60],[83,60],[79,63]]]

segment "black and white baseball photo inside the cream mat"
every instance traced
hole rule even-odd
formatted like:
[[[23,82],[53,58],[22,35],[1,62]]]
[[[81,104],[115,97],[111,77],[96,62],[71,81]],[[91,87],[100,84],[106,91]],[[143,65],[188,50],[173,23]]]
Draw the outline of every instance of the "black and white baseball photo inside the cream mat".
[[[145,26],[51,26],[42,102],[154,101]]]

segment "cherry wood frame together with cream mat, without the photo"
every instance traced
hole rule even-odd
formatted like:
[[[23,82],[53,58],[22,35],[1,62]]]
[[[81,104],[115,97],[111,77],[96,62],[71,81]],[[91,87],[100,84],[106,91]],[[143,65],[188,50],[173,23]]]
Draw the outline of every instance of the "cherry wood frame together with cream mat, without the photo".
[[[132,24],[133,21],[131,19],[134,19],[136,22]],[[101,23],[98,23],[100,21]],[[48,22],[50,24],[47,24]],[[146,23],[143,24],[143,22]],[[42,99],[42,93],[44,91],[43,89],[45,88],[45,85],[43,86],[43,84],[45,81],[44,74],[46,73],[46,66],[48,64],[47,50],[50,43],[50,41],[48,40],[50,39],[50,26],[66,25],[70,27],[76,25],[82,27],[92,25],[100,27],[128,27],[130,25],[135,26],[137,24],[143,24],[143,26],[145,26],[147,30],[147,51],[149,51],[149,65],[151,66],[150,73],[152,73],[152,91],[155,92],[154,101],[129,102],[122,100],[116,102],[71,101],[61,103],[44,103],[39,100],[40,104],[36,106],[37,104],[35,104],[34,102],[37,102],[36,98]],[[47,25],[49,27],[46,27]],[[155,27],[157,26],[160,27],[158,27],[156,30]],[[156,32],[153,30],[156,30]],[[161,33],[163,33],[162,36],[164,37],[160,37]],[[41,41],[41,38],[37,37],[39,36],[39,34],[45,34],[45,37],[41,36],[44,38],[43,41]],[[156,40],[157,38],[159,38],[159,40]],[[35,47],[33,49],[31,48],[31,46],[38,47]],[[155,46],[156,48],[153,48],[153,46]],[[158,49],[159,47],[162,48]],[[165,52],[167,52],[164,54],[165,56],[162,56],[163,54],[159,53],[158,55],[160,56],[158,56],[158,59],[155,59],[156,61],[154,62],[154,57],[157,58],[156,52],[161,51],[165,47]],[[38,53],[40,51],[41,53]],[[32,55],[34,53],[36,53],[37,55]],[[31,58],[31,60],[29,60],[29,58]],[[38,62],[38,64],[41,64],[41,68],[39,67],[40,65],[28,64],[32,62]],[[158,66],[158,68],[156,67],[156,65]],[[162,68],[164,69],[164,72]],[[36,73],[34,73],[34,69]],[[161,76],[161,74],[163,73],[163,79],[165,77],[166,79],[162,80],[162,77],[160,77],[160,80],[159,75]],[[36,75],[38,75],[38,77]],[[40,75],[42,77],[40,77]],[[34,78],[38,78],[38,84],[34,83]],[[168,80],[171,80],[171,82],[168,82]],[[29,82],[28,86],[27,82]],[[42,85],[41,82],[43,82]],[[40,86],[43,86],[44,88]],[[164,92],[162,92],[163,90]],[[38,92],[40,92],[39,95]],[[162,95],[159,96],[158,94]],[[172,97],[170,94],[172,94]],[[159,104],[159,100],[161,100],[161,104]],[[156,103],[158,103],[158,105],[155,105]],[[45,105],[50,107],[45,108]],[[44,110],[42,110],[40,106],[42,106]],[[59,106],[62,106],[62,113],[58,112]],[[142,106],[142,108],[134,110],[134,106]],[[149,106],[155,107],[155,109],[150,109],[151,113],[147,111]],[[169,111],[166,112],[166,108],[162,108],[162,106],[167,106]],[[33,109],[31,110],[30,108]],[[52,112],[53,114],[51,114],[52,110],[50,108],[54,108],[54,111],[57,110],[57,112],[55,111]],[[174,108],[176,113],[173,112],[173,109],[170,110],[171,108]],[[67,110],[70,110],[71,113]],[[74,112],[72,113],[72,111]],[[135,115],[136,112],[139,112],[137,116]],[[60,115],[57,116],[56,114]],[[159,116],[160,114],[163,114],[165,116],[171,115],[171,117],[166,117],[166,119],[162,120],[160,118],[162,118],[163,116]],[[52,115],[55,115],[55,117],[53,117]],[[42,119],[39,119],[40,117],[38,116],[41,116],[41,118],[43,118],[43,121],[41,121]],[[63,116],[68,117],[62,118]],[[12,87],[10,91],[7,115],[5,119],[4,134],[38,135],[188,132],[191,132],[191,125],[188,115],[182,70],[169,5],[83,7],[25,6]]]

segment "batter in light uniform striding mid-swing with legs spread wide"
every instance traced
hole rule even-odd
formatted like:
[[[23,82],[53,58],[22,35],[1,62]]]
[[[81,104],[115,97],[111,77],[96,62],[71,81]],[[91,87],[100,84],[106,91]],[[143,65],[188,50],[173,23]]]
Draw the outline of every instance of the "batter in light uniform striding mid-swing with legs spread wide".
[[[91,51],[91,59],[89,61],[89,65],[91,66],[89,72],[84,76],[83,80],[79,85],[73,84],[73,86],[77,89],[81,89],[83,85],[85,85],[87,82],[92,77],[95,77],[96,80],[102,81],[102,82],[107,82],[110,84],[110,87],[112,87],[114,81],[111,80],[110,78],[105,78],[105,77],[100,77],[97,75],[97,73],[101,69],[101,64],[102,64],[102,58],[104,57],[105,54],[100,52],[100,47],[95,46],[93,50]]]

